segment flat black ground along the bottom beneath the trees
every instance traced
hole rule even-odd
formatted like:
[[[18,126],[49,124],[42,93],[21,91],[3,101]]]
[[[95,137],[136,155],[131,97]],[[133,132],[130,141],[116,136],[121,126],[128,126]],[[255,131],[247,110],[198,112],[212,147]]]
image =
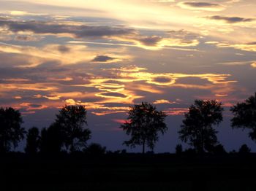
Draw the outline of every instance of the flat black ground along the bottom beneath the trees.
[[[0,156],[0,190],[256,190],[256,155]]]

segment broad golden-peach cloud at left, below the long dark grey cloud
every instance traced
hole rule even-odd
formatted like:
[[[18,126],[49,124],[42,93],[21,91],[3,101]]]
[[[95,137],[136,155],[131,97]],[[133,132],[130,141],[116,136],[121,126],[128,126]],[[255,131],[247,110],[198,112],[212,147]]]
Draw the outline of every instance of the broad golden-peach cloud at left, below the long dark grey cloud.
[[[35,67],[42,63],[47,63],[49,61],[56,61],[61,65],[70,65],[78,63],[90,63],[101,62],[101,63],[113,63],[120,61],[129,61],[131,56],[108,54],[108,59],[102,52],[102,56],[95,58],[95,52],[93,49],[87,49],[85,45],[80,44],[47,44],[43,47],[31,47],[31,46],[17,46],[12,44],[5,44],[0,42],[0,51],[12,54],[12,65],[15,67]],[[111,50],[109,50],[111,51]],[[101,51],[98,50],[100,53]],[[112,51],[111,51],[112,52]],[[23,59],[20,59],[23,56]],[[10,58],[10,56],[9,56]],[[16,59],[15,59],[16,58]],[[113,58],[113,59],[111,59]],[[105,59],[105,61],[104,61]],[[9,61],[9,59],[7,60]]]

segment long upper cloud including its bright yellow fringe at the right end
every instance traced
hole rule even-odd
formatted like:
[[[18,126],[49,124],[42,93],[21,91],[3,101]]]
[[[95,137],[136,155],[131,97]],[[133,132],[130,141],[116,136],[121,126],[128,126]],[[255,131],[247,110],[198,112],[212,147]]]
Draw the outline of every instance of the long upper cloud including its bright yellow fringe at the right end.
[[[127,47],[140,47],[146,50],[162,50],[168,47],[195,47],[199,44],[199,35],[188,31],[168,31],[162,36],[143,35],[140,31],[126,26],[94,26],[69,21],[39,21],[39,20],[0,20],[0,27],[12,34],[27,33],[31,35],[55,35],[73,39],[105,39],[108,42],[100,44],[120,44]],[[18,35],[20,36],[20,35]],[[193,36],[193,38],[192,38]],[[39,37],[37,37],[39,38]],[[16,37],[28,41],[29,37]],[[34,37],[34,40],[36,37]],[[32,41],[32,38],[30,38]],[[109,40],[112,42],[110,43]],[[116,42],[115,42],[116,41]],[[74,42],[74,41],[70,41]],[[93,42],[97,43],[97,42]]]

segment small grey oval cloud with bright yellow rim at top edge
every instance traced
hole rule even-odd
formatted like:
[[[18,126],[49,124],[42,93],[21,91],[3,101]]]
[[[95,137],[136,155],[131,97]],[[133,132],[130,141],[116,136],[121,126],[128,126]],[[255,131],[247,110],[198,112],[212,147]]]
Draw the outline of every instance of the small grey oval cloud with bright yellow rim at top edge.
[[[197,2],[197,1],[182,1],[178,3],[178,6],[184,9],[192,10],[206,10],[206,11],[221,11],[225,9],[221,4],[209,3],[209,2]]]

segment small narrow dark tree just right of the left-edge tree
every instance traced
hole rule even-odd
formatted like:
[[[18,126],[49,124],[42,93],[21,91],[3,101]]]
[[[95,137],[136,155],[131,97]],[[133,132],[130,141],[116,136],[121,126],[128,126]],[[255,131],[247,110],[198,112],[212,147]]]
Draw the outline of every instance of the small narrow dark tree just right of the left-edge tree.
[[[26,135],[25,152],[28,154],[36,154],[39,150],[40,136],[38,128],[30,128]]]

